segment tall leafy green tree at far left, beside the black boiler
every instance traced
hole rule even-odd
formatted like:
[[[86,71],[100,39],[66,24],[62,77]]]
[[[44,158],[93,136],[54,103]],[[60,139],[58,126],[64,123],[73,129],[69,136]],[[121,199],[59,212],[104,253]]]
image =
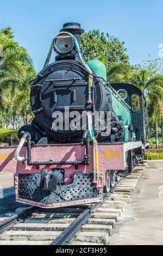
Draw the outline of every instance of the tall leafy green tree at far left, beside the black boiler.
[[[14,104],[14,97],[18,92],[27,92],[29,81],[35,77],[32,59],[27,50],[20,47],[13,40],[11,28],[4,28],[0,32],[0,44],[3,55],[0,57],[0,109],[12,110],[13,128],[16,128],[16,112],[19,106]]]

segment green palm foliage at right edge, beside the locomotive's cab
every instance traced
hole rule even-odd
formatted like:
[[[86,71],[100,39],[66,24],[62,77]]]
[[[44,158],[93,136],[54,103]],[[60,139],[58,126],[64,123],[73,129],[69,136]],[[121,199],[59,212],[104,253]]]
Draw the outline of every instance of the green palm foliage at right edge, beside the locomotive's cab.
[[[161,135],[161,117],[163,101],[163,75],[162,61],[149,59],[143,65],[136,65],[131,76],[131,83],[139,87],[147,100],[149,135],[155,136],[155,125],[158,123],[159,135]]]

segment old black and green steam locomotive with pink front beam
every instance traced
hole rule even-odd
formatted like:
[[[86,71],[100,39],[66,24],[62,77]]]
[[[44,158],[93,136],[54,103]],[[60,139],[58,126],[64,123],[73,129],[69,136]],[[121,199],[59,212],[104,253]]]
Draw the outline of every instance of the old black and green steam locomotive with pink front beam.
[[[85,62],[79,23],[66,23],[31,81],[31,124],[17,147],[1,148],[0,171],[14,173],[16,200],[42,208],[98,202],[143,162],[146,100],[132,84],[106,82],[105,65]],[[52,50],[57,53],[49,64]]]

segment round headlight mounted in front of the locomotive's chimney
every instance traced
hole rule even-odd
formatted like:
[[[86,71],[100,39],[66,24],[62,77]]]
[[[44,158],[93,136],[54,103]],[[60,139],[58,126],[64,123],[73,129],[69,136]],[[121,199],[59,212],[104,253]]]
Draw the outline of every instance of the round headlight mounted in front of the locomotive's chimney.
[[[61,32],[54,38],[54,51],[59,54],[68,54],[73,51],[74,42],[68,33]]]

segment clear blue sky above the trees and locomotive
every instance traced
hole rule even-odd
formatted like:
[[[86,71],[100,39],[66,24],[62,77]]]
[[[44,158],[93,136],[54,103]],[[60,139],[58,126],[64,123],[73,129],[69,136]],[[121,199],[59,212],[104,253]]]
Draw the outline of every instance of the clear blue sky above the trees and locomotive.
[[[0,28],[11,26],[35,69],[42,69],[52,37],[63,23],[79,22],[126,41],[130,63],[158,58],[163,43],[162,0],[0,0]]]

